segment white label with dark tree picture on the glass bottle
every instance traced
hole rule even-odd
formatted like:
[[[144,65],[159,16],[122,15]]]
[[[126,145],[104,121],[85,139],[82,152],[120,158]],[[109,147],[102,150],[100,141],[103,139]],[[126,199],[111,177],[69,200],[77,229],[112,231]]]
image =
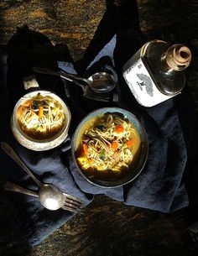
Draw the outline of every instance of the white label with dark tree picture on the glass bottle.
[[[173,96],[164,95],[155,86],[141,59],[128,61],[123,67],[123,77],[139,104],[144,107],[153,107]]]

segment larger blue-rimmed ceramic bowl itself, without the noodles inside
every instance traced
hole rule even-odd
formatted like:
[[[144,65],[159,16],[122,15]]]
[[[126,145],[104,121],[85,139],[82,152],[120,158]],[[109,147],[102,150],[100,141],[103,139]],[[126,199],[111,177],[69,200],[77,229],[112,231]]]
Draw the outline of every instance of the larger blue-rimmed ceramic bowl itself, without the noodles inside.
[[[108,178],[106,179],[104,177],[100,177],[97,171],[87,172],[86,170],[82,170],[81,165],[79,165],[79,162],[76,159],[77,158],[76,151],[79,147],[79,144],[81,144],[82,134],[85,133],[85,130],[90,126],[91,122],[94,122],[94,120],[97,117],[100,117],[107,112],[117,114],[122,118],[127,118],[130,123],[133,123],[133,127],[138,132],[138,135],[140,138],[140,144],[138,147],[138,157],[136,157],[135,161],[133,161],[132,164],[129,165],[128,170],[124,171],[123,175],[120,175],[117,178],[112,177],[112,179],[111,179],[111,175],[110,177],[108,175]],[[113,188],[113,187],[125,185],[128,182],[134,180],[143,170],[143,166],[146,163],[147,155],[148,155],[148,139],[147,139],[146,132],[143,128],[143,125],[140,123],[138,118],[136,118],[133,115],[133,113],[128,112],[127,110],[119,107],[103,107],[93,112],[90,112],[86,116],[86,118],[83,118],[81,120],[81,123],[79,123],[79,125],[77,126],[76,131],[73,134],[73,137],[71,140],[71,153],[72,153],[74,162],[76,164],[77,170],[79,171],[79,174],[82,175],[87,181],[91,182],[91,184],[98,185],[100,187]],[[110,171],[110,174],[111,174],[111,171]]]

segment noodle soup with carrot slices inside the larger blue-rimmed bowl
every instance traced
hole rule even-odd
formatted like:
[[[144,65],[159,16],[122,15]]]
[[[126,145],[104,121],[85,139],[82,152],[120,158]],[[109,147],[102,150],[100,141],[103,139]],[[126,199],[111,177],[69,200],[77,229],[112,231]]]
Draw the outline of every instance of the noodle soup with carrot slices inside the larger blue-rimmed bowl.
[[[117,180],[131,171],[141,152],[137,128],[119,112],[91,118],[76,139],[76,162],[94,179]]]

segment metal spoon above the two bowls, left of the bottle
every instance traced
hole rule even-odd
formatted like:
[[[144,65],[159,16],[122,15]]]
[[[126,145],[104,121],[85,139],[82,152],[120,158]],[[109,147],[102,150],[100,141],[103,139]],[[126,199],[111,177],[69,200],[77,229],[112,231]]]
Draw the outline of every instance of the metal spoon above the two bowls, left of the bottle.
[[[61,69],[59,71],[54,71],[53,69],[50,69],[48,67],[36,66],[33,68],[33,71],[41,74],[60,76],[63,79],[76,83],[78,86],[83,86],[79,84],[78,81],[85,81],[87,86],[89,86],[92,91],[95,91],[97,93],[107,93],[109,91],[112,91],[112,89],[116,86],[117,82],[116,72],[112,69],[111,66],[108,65],[107,69],[112,71],[113,76],[107,72],[97,72],[90,76],[88,79],[81,76],[69,74]]]

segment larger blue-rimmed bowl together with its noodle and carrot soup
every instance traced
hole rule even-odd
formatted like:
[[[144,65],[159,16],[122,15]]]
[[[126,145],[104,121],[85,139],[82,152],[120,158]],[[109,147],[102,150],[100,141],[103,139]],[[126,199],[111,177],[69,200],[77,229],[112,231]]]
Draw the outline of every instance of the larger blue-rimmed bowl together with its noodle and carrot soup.
[[[143,170],[147,134],[132,112],[103,107],[81,120],[71,140],[71,154],[87,181],[117,187],[131,182]]]

